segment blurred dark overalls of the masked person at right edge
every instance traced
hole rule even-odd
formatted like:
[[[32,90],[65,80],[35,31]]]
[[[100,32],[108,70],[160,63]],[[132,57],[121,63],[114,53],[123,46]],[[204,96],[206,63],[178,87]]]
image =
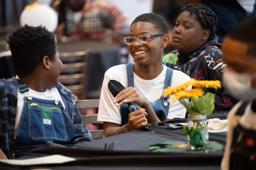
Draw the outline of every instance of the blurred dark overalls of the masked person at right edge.
[[[237,109],[236,116],[242,116],[249,102],[243,102]],[[230,153],[230,170],[255,169],[256,131],[244,128],[237,120],[233,131]]]

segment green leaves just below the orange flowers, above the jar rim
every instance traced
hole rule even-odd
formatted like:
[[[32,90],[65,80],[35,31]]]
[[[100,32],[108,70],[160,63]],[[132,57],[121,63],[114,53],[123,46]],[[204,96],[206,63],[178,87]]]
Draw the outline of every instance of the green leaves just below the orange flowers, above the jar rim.
[[[215,94],[208,92],[201,98],[191,98],[191,101],[185,101],[184,99],[179,99],[180,103],[183,104],[187,112],[191,115],[209,115],[214,110],[214,97]]]

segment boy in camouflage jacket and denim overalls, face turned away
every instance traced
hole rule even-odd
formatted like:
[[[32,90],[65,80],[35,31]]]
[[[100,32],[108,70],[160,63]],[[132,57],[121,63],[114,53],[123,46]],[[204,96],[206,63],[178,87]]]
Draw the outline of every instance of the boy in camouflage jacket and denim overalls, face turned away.
[[[55,36],[25,25],[9,36],[16,77],[0,79],[0,156],[15,158],[46,142],[92,140],[75,105],[76,96],[58,83],[62,61]]]

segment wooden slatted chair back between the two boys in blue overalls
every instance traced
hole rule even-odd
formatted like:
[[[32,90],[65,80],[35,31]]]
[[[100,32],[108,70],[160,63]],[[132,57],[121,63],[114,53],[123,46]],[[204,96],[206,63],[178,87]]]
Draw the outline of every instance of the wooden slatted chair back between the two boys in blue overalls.
[[[78,109],[86,109],[86,108],[97,108],[99,107],[100,99],[92,99],[92,100],[76,100],[76,105]],[[82,121],[84,124],[88,123],[97,123],[98,114],[93,115],[82,115]],[[89,130],[92,134],[93,139],[98,139],[104,137],[104,130]]]

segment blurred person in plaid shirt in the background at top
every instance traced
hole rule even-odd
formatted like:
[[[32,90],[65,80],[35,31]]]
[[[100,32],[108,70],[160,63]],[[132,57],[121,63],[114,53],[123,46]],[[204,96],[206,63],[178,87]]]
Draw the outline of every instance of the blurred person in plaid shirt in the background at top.
[[[129,18],[107,0],[55,0],[52,7],[59,14],[58,41],[108,38],[111,43],[129,33]]]

